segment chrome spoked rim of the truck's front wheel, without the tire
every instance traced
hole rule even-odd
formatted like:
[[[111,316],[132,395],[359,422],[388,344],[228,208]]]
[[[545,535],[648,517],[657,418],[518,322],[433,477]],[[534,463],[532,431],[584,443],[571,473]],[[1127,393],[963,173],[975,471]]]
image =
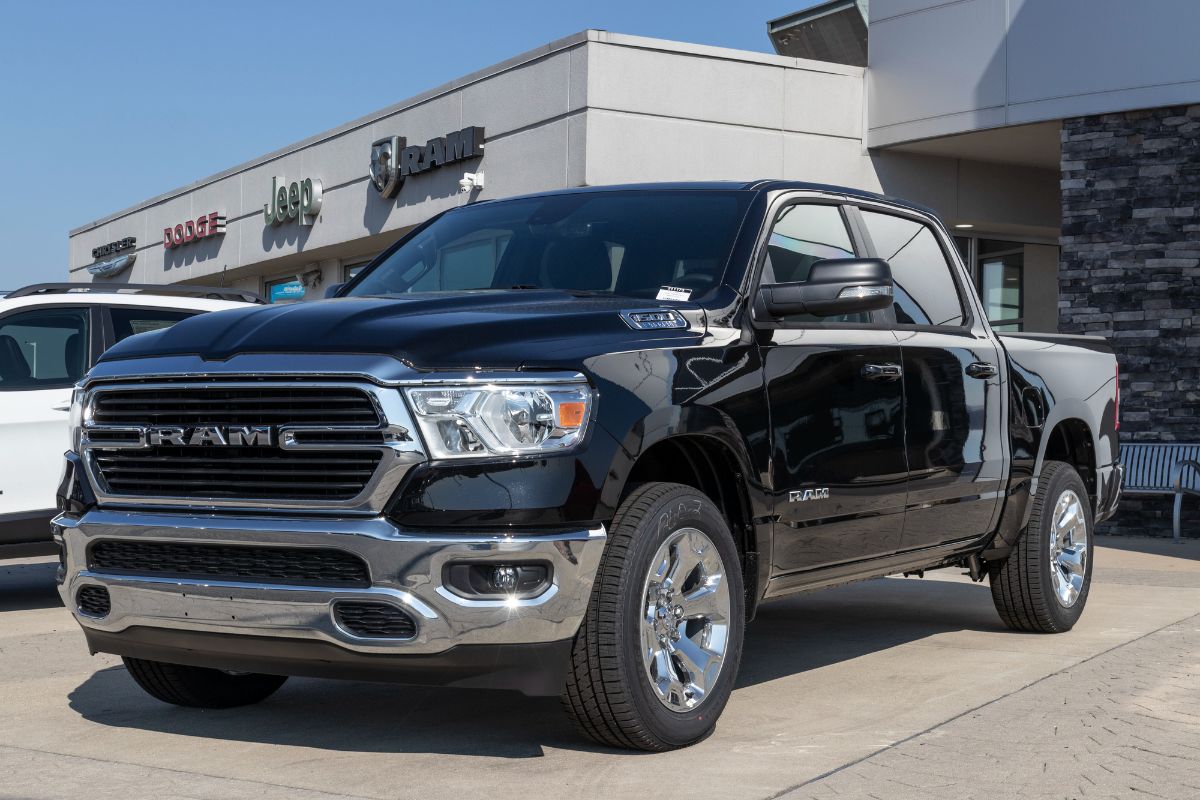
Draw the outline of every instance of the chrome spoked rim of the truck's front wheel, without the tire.
[[[690,711],[716,684],[728,640],[730,587],[713,540],[674,531],[650,561],[643,596],[646,675],[662,705]]]

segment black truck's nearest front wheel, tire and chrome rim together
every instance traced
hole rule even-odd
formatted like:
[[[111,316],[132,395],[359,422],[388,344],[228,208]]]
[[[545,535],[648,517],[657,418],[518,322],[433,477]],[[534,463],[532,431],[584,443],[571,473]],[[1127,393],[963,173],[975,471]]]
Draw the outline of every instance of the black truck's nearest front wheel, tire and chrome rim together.
[[[563,702],[613,747],[685,747],[716,727],[742,660],[745,599],[713,503],[644,483],[622,503],[575,637]]]

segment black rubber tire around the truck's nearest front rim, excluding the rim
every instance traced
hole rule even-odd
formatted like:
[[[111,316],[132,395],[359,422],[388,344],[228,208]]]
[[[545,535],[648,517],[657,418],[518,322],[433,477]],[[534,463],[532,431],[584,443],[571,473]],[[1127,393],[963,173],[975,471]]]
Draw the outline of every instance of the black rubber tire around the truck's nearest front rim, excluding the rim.
[[[641,625],[650,563],[685,528],[700,530],[715,546],[730,591],[730,615],[725,656],[713,685],[695,708],[672,710],[652,687],[642,661]],[[655,752],[686,747],[716,727],[737,679],[744,630],[740,560],[720,511],[689,486],[643,483],[620,504],[608,531],[575,637],[563,704],[580,730],[601,745]]]

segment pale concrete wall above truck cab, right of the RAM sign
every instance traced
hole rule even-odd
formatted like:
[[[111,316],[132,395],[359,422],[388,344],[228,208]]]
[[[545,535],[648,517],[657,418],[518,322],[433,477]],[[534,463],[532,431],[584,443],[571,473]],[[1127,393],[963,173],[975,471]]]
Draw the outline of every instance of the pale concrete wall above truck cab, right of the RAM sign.
[[[784,178],[904,197],[997,234],[1057,235],[1056,170],[868,151],[864,72],[610,34],[588,54],[587,184]]]

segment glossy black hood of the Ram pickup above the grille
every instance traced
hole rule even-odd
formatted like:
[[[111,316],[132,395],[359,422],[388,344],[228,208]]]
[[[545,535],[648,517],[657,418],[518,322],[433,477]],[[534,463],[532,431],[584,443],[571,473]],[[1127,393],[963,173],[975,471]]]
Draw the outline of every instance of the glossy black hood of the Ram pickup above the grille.
[[[680,311],[696,308],[665,303]],[[694,338],[692,330],[635,331],[620,311],[662,307],[653,300],[576,296],[564,291],[428,293],[253,306],[198,314],[132,336],[103,359],[241,353],[389,355],[416,368],[516,367],[631,348],[647,339]],[[698,314],[688,314],[698,319]]]

